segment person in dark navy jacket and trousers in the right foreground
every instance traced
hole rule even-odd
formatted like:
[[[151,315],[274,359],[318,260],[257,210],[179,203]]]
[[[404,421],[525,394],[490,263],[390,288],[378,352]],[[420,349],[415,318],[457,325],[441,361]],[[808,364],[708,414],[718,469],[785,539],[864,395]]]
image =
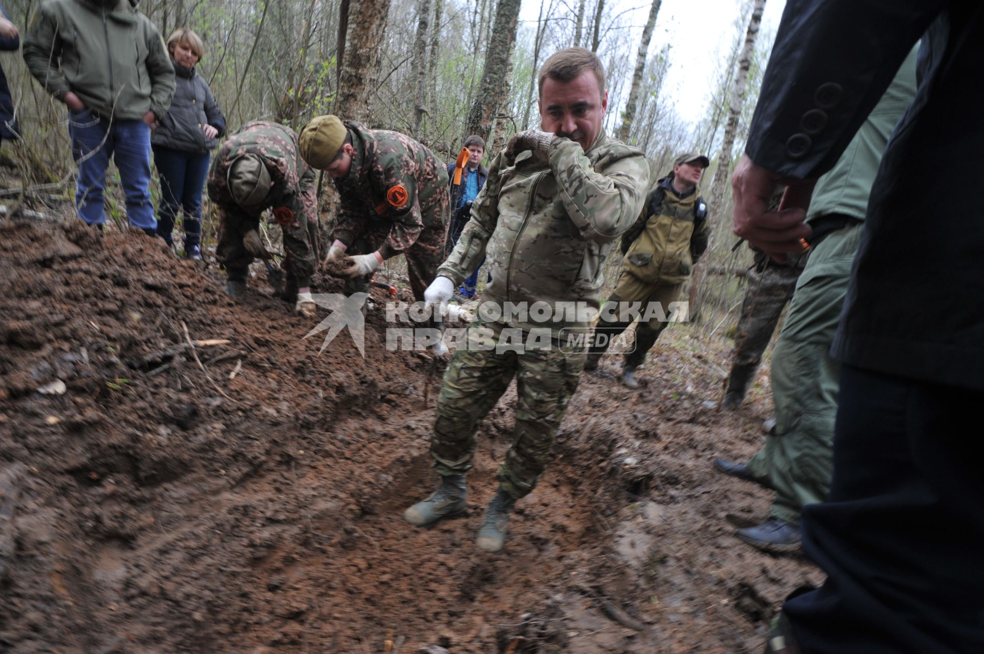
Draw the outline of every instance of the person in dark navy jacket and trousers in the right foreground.
[[[830,496],[803,510],[827,581],[786,602],[768,652],[984,651],[984,6],[788,0],[732,178],[734,231],[779,259],[802,248],[812,180],[920,37],[919,87],[882,157],[831,348]]]

